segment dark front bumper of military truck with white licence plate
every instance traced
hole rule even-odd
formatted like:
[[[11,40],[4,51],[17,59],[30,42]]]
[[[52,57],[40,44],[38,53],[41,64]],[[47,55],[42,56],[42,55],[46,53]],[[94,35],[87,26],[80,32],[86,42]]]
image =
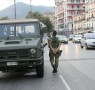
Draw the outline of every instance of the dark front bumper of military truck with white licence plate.
[[[19,71],[42,64],[43,57],[37,59],[0,60],[0,71]]]

